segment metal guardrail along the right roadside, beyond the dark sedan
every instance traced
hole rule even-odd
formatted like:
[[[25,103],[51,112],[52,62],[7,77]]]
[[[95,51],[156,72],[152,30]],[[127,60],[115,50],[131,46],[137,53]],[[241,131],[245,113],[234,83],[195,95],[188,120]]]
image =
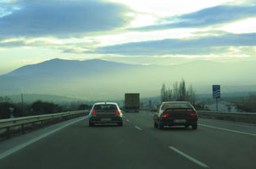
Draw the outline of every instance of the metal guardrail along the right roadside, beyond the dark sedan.
[[[209,112],[198,111],[198,117],[214,118],[232,122],[256,124],[256,112]]]

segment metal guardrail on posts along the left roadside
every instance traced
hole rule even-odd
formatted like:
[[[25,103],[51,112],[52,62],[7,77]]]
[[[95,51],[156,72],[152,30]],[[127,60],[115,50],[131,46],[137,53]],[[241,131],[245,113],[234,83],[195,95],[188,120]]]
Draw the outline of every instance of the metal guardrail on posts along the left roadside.
[[[16,117],[16,118],[8,118],[0,120],[0,129],[6,128],[7,138],[10,137],[10,128],[14,128],[16,126],[21,126],[20,130],[23,134],[25,132],[25,125],[34,124],[34,123],[48,123],[53,122],[54,120],[64,120],[70,119],[72,117],[79,117],[85,115],[89,111],[75,111],[75,112],[60,112],[54,114],[47,115],[37,115],[37,116],[29,116],[29,117]]]

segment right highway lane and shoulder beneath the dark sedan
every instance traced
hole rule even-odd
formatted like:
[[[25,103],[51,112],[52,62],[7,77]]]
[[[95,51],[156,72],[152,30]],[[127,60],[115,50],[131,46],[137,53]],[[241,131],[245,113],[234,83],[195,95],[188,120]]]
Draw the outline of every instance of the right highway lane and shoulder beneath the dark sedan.
[[[159,130],[153,128],[152,115],[141,112],[126,117],[165,146],[174,146],[211,168],[255,168],[255,125],[199,118],[198,130],[183,127]]]

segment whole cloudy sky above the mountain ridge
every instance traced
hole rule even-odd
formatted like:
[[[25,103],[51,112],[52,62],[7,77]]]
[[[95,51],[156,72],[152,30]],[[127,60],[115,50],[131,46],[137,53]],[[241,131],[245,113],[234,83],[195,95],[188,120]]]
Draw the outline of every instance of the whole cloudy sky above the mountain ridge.
[[[256,1],[0,0],[0,74],[56,57],[256,62]]]

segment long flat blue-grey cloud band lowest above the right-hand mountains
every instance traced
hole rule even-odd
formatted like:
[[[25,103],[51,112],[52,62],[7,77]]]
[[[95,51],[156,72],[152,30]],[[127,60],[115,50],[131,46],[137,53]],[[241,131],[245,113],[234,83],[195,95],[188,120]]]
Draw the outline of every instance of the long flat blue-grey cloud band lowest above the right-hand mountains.
[[[121,55],[209,55],[230,52],[231,46],[256,46],[256,33],[225,34],[190,39],[141,41],[97,48],[94,53]]]

